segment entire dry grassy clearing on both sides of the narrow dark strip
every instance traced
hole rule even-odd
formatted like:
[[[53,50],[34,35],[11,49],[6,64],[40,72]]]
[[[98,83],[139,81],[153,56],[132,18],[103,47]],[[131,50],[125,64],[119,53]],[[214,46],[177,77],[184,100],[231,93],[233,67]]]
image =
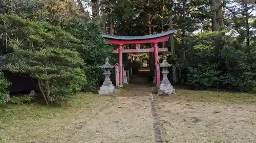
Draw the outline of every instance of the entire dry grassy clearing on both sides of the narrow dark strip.
[[[118,97],[80,94],[61,107],[8,104],[0,109],[0,142],[152,142],[150,97],[140,96],[151,90],[123,90]],[[157,104],[164,142],[256,142],[252,94],[177,90],[157,97]]]

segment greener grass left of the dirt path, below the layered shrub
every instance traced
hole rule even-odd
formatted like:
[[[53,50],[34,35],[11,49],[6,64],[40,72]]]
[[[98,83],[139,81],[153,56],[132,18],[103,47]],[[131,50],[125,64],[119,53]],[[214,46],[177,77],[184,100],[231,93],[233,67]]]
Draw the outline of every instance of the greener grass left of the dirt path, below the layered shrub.
[[[0,142],[52,142],[62,140],[84,126],[100,106],[111,99],[106,96],[80,94],[62,107],[39,104],[13,105],[0,109]],[[67,129],[70,128],[70,129]],[[51,141],[49,141],[51,140]]]

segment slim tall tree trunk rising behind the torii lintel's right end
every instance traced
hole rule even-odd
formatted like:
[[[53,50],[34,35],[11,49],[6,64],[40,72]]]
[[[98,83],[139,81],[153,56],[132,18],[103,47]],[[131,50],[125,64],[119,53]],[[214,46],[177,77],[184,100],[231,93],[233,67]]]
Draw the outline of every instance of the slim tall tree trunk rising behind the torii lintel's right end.
[[[168,19],[169,19],[169,30],[173,30],[173,14],[172,14],[172,5],[171,2],[169,1],[169,13],[168,13]],[[176,65],[175,65],[175,47],[174,47],[174,37],[170,37],[170,52],[171,53],[171,59],[173,61],[173,65],[172,65],[172,79],[173,79],[173,83],[177,83],[178,82],[178,78],[177,78],[177,72],[176,72]]]

